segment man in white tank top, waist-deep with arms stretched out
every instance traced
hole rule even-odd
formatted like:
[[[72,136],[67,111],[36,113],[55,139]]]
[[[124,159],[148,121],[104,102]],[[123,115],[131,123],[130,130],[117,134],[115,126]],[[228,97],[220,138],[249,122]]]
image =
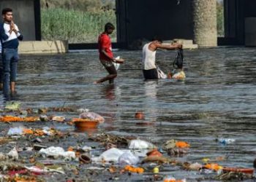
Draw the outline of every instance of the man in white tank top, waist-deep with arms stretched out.
[[[142,55],[143,75],[145,79],[159,79],[156,66],[156,53],[158,48],[164,50],[175,50],[182,48],[182,45],[163,45],[162,40],[158,38],[154,38],[151,42],[145,44]]]

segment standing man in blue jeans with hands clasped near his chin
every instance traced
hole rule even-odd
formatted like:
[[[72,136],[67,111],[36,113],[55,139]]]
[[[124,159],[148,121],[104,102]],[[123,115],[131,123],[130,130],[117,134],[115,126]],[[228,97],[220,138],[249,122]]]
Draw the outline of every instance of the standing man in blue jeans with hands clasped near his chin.
[[[3,55],[3,90],[4,94],[15,92],[15,82],[18,66],[18,40],[23,40],[18,26],[15,25],[12,18],[12,9],[5,8],[2,10],[2,17],[4,19],[4,35],[2,36],[2,55]]]

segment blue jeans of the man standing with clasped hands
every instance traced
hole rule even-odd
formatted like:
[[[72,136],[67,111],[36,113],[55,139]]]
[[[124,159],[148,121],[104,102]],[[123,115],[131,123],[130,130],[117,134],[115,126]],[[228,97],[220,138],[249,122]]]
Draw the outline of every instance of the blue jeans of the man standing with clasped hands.
[[[18,49],[4,49],[3,52],[3,91],[10,92],[10,82],[16,81],[17,65],[18,65]]]

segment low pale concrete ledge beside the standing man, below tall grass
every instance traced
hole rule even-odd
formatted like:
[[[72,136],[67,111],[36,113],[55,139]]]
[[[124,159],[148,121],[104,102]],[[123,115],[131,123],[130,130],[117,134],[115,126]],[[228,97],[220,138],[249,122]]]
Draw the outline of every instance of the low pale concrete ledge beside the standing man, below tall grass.
[[[67,41],[20,41],[18,47],[20,54],[50,54],[66,53]]]

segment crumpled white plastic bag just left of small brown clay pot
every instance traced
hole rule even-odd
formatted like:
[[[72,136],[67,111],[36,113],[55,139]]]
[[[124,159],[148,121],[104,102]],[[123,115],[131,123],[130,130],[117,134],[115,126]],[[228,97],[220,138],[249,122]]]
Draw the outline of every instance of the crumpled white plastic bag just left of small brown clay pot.
[[[61,147],[50,146],[47,149],[40,149],[39,154],[46,157],[64,157],[64,159],[75,159],[75,151],[64,151]]]

